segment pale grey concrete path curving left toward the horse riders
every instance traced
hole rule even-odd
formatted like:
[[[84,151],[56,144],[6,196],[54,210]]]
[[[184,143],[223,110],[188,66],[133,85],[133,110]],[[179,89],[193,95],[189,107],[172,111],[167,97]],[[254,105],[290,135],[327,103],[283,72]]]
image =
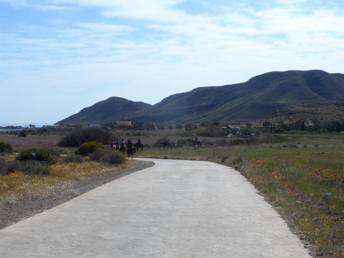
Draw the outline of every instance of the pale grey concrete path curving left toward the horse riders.
[[[0,230],[0,257],[309,257],[234,169],[153,161]]]

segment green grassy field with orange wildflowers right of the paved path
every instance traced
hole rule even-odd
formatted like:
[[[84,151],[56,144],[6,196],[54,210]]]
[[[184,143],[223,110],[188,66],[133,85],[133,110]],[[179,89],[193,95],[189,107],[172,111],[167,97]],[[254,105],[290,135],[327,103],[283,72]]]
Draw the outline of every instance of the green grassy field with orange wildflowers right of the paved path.
[[[138,156],[233,166],[265,194],[316,255],[344,257],[344,137],[302,132],[277,138],[278,144],[151,149]],[[326,193],[331,193],[329,202],[323,200]]]

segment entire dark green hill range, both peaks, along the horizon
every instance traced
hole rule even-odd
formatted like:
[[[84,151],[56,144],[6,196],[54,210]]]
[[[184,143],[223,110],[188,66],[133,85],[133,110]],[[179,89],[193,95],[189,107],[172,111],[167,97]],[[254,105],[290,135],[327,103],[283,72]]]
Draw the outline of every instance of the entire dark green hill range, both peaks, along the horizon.
[[[119,100],[129,101],[116,98]],[[344,74],[321,70],[269,72],[245,83],[200,87],[174,94],[153,106],[131,101],[133,107],[119,105],[123,107],[121,109],[109,98],[60,122],[85,124],[92,118],[92,123],[112,123],[122,119],[165,125],[207,121],[237,123],[264,118],[275,110],[331,101],[344,101]]]

